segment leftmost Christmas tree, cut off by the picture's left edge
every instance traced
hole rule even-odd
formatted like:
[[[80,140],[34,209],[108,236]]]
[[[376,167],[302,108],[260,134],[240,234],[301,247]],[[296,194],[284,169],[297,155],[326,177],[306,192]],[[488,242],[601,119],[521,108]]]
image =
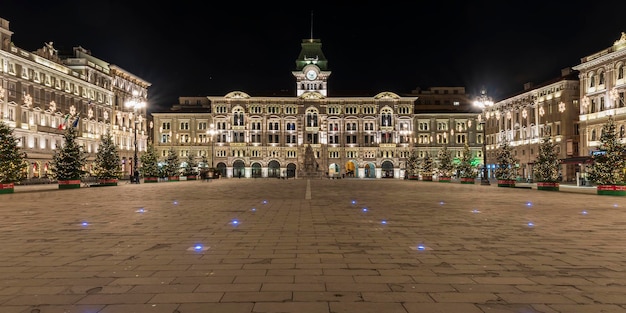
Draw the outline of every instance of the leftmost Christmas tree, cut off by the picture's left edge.
[[[13,129],[0,121],[0,183],[13,183],[23,178],[26,153],[17,146]]]

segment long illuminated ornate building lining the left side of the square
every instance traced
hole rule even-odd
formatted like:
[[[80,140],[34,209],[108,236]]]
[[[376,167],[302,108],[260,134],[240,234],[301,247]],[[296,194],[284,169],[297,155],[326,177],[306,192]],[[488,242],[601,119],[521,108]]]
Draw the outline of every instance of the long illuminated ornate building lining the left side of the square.
[[[88,153],[92,169],[100,136],[110,132],[124,173],[131,172],[134,127],[138,149],[147,142],[146,108],[125,107],[131,99],[147,99],[150,83],[75,47],[64,55],[52,42],[37,51],[18,48],[9,21],[0,19],[0,118],[13,128],[27,153],[27,179],[45,178],[55,150],[63,144],[62,124],[78,118],[77,142]],[[67,119],[66,116],[70,115]]]

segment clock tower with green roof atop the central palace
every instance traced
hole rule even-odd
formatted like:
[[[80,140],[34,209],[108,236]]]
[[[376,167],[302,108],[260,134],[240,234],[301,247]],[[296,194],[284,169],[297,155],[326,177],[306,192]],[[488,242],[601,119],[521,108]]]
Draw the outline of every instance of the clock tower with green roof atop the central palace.
[[[322,52],[319,39],[303,39],[302,49],[296,60],[296,69],[292,71],[296,78],[296,96],[307,92],[316,92],[328,96],[328,61]]]

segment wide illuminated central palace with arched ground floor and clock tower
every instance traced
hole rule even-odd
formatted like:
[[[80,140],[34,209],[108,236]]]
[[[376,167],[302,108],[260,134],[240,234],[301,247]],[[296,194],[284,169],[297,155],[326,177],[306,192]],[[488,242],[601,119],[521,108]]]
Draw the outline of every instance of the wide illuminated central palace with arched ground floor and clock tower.
[[[153,112],[154,146],[184,166],[191,155],[222,177],[403,178],[412,151],[460,157],[467,143],[482,160],[482,129],[462,87],[331,97],[321,41],[305,39],[292,71],[295,94],[180,97]],[[314,157],[306,169],[306,150]]]

